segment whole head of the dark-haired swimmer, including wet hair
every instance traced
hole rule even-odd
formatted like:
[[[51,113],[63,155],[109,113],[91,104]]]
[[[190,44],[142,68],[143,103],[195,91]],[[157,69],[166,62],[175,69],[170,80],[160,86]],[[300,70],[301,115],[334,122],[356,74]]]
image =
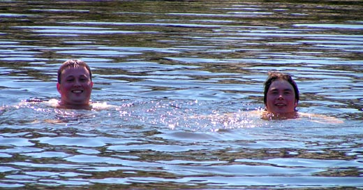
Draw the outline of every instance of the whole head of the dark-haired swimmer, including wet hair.
[[[279,72],[269,72],[268,75],[263,98],[266,110],[273,113],[296,111],[299,89],[291,75]]]

